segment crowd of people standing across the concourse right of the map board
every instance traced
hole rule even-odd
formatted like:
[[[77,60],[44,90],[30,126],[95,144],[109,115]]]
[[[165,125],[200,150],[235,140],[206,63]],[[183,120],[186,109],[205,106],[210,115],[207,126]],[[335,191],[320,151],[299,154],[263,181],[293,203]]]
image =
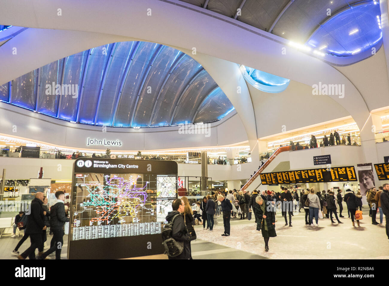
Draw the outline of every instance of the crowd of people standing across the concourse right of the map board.
[[[389,239],[389,184],[384,184],[368,191],[367,200],[370,208],[370,216],[373,225],[382,225],[383,214],[386,220],[386,235]],[[314,188],[306,189],[298,194],[297,191],[289,191],[285,187],[281,187],[279,192],[253,190],[252,193],[247,191],[218,191],[213,195],[207,195],[195,203],[194,210],[192,209],[186,197],[173,201],[173,211],[168,213],[166,220],[171,223],[175,215],[180,214],[175,220],[172,227],[172,238],[182,242],[184,247],[182,252],[175,256],[169,256],[169,259],[192,259],[191,256],[191,240],[196,239],[194,226],[196,220],[202,223],[203,230],[213,231],[214,219],[223,214],[224,233],[222,236],[228,237],[231,235],[230,219],[251,219],[251,214],[254,213],[256,229],[261,231],[265,242],[265,251],[269,250],[270,237],[276,237],[275,223],[277,211],[281,211],[285,219],[285,226],[292,226],[293,212],[301,212],[301,208],[305,212],[305,224],[315,227],[319,226],[319,219],[331,219],[331,223],[335,223],[334,217],[338,224],[342,224],[339,218],[344,218],[342,215],[343,205],[345,202],[349,218],[351,218],[352,226],[357,226],[361,219],[362,200],[361,194],[358,191],[356,194],[351,189],[347,189],[344,197],[342,190],[335,191],[317,191]],[[219,211],[217,211],[219,209]],[[339,217],[337,210],[339,209]],[[376,221],[377,210],[380,212],[380,223]],[[382,214],[382,215],[381,215]],[[289,218],[289,221],[288,221]],[[315,218],[315,220],[314,220]]]

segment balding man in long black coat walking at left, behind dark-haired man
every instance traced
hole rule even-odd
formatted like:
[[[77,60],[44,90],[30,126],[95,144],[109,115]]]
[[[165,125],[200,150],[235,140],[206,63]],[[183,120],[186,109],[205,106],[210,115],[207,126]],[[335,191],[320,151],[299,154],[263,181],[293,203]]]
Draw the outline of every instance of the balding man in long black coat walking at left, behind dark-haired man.
[[[31,245],[25,252],[18,256],[18,259],[35,259],[35,249],[42,244],[42,230],[46,230],[44,214],[42,209],[43,193],[37,192],[30,205],[31,213],[28,215],[25,234],[30,235]]]

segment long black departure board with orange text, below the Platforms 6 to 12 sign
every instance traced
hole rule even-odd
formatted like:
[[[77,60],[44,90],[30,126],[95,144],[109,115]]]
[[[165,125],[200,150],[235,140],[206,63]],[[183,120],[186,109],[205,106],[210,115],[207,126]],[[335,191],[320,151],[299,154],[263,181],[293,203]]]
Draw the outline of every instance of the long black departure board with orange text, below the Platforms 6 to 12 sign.
[[[377,164],[377,165],[385,165],[385,164]],[[386,165],[387,165],[386,174],[389,175],[389,164]],[[382,168],[382,170],[384,170],[384,168]],[[287,172],[263,173],[260,174],[260,177],[263,185],[357,181],[354,166],[332,167],[330,169],[321,168],[321,169],[297,170],[297,171],[287,171]]]

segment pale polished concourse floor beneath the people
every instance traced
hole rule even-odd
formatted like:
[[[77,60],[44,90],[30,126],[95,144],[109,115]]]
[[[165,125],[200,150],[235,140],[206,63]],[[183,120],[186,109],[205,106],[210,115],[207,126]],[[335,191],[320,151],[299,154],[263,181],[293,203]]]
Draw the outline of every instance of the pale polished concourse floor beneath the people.
[[[261,232],[256,230],[254,220],[231,219],[231,236],[223,237],[223,218],[212,232],[196,225],[198,239],[191,243],[193,259],[389,259],[389,240],[384,225],[372,225],[368,208],[363,209],[360,227],[353,227],[343,211],[343,224],[331,224],[329,219],[320,219],[319,227],[305,225],[304,212],[294,212],[292,227],[285,226],[284,218],[277,212],[277,237],[270,238],[269,251],[265,252]],[[379,214],[377,215],[379,222]],[[51,240],[47,235],[46,245]],[[11,252],[20,237],[4,235],[0,239],[0,259],[17,259]],[[20,247],[22,253],[30,245],[30,239]],[[46,248],[47,249],[47,248]],[[66,259],[67,236],[61,254]],[[49,256],[55,259],[55,253]],[[153,258],[166,259],[165,255]]]

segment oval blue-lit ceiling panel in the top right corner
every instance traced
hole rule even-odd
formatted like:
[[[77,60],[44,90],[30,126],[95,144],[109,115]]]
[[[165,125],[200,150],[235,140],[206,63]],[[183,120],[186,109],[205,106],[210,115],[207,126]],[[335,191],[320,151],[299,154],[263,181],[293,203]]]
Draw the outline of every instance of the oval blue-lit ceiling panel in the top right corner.
[[[376,3],[376,4],[375,4]],[[333,56],[353,56],[382,42],[380,5],[365,1],[338,12],[314,31],[307,45]]]

